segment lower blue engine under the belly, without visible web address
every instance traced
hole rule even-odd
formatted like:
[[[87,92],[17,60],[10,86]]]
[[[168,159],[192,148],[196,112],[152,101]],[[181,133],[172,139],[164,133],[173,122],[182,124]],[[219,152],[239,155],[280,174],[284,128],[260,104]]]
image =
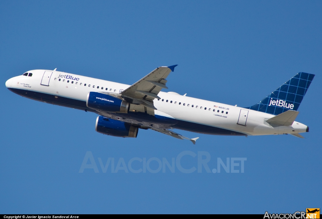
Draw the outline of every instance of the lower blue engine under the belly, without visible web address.
[[[116,137],[136,138],[138,128],[125,122],[98,116],[95,124],[96,132]]]

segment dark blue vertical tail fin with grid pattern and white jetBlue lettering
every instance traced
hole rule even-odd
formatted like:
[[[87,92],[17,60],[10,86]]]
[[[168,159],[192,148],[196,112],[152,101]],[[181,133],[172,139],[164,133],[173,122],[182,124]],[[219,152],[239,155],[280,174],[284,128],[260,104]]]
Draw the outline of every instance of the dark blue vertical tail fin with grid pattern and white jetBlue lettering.
[[[246,109],[278,115],[288,110],[298,110],[315,75],[299,72],[258,104]]]

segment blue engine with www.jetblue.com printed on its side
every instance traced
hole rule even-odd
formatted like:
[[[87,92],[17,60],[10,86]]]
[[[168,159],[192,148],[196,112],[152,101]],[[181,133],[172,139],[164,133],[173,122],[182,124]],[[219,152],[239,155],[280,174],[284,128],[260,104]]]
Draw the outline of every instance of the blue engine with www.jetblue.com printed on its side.
[[[88,108],[110,113],[128,113],[129,103],[108,94],[89,92],[86,99]]]

